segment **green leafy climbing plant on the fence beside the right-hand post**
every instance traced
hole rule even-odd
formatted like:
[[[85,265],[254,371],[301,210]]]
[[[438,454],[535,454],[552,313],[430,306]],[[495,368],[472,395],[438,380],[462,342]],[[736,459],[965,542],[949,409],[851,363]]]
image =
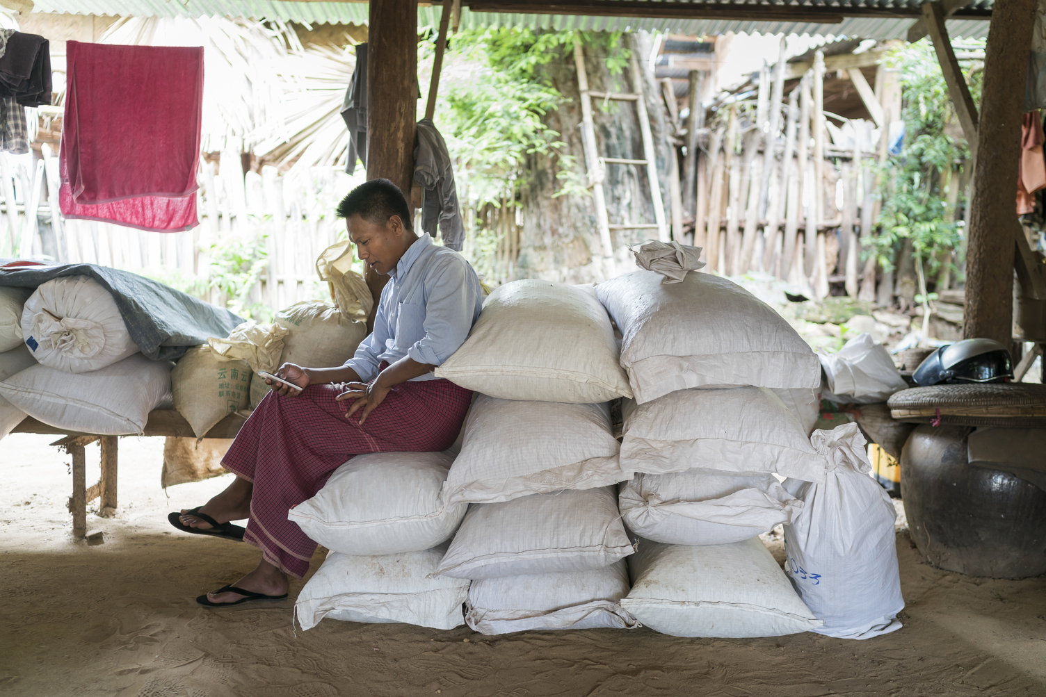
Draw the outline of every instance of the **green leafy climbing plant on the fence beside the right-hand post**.
[[[962,239],[961,223],[956,223],[956,211],[947,200],[948,187],[958,186],[970,144],[961,135],[932,44],[908,44],[893,51],[889,63],[901,70],[905,139],[901,155],[891,157],[881,172],[883,228],[874,253],[889,269],[901,245],[910,239],[916,263],[934,273]],[[979,103],[980,69],[965,64],[965,78]],[[959,194],[955,208],[964,205]]]

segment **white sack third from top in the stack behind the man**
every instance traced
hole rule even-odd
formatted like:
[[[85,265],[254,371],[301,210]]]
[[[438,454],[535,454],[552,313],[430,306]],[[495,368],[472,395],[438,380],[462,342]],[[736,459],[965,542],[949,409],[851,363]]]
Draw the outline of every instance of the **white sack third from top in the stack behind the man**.
[[[475,504],[437,573],[486,579],[584,572],[632,554],[612,487]]]

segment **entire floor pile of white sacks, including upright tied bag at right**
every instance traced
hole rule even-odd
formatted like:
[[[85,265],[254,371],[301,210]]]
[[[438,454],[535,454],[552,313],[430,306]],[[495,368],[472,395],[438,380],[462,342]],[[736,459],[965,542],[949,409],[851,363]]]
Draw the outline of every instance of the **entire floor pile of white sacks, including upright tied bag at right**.
[[[329,550],[298,597],[303,628],[900,627],[894,511],[864,439],[810,437],[818,358],[734,283],[515,281],[436,375],[478,393],[459,451],[354,458],[289,512]],[[757,537],[780,524],[787,573]]]

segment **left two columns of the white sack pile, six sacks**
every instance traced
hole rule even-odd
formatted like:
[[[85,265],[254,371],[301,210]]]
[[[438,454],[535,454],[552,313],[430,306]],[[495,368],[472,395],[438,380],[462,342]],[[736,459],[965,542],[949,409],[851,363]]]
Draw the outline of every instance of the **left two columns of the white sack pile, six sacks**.
[[[436,372],[478,393],[459,451],[354,458],[291,510],[331,550],[298,597],[302,627],[451,628],[462,602],[484,633],[636,626],[619,603],[633,548],[614,489],[632,477],[608,403],[631,394],[617,354],[591,287],[495,291]]]

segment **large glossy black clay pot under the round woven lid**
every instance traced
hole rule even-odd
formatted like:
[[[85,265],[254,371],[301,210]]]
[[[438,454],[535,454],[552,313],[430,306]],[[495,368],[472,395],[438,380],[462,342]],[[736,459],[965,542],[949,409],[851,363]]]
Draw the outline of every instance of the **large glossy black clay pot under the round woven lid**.
[[[964,426],[920,425],[901,455],[905,514],[919,554],[970,576],[1046,574],[1046,491],[968,464]]]

